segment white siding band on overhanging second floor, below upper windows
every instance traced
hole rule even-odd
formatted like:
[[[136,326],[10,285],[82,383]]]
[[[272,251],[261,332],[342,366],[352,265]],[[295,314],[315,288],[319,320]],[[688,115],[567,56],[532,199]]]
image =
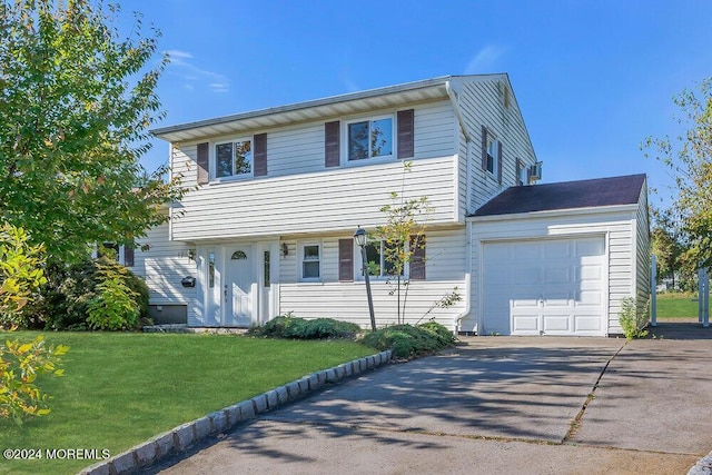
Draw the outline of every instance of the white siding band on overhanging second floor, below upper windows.
[[[426,196],[431,222],[452,222],[456,211],[453,156],[414,160],[407,198]],[[380,207],[400,191],[403,164],[337,168],[274,179],[209,185],[186,194],[172,238],[194,241],[245,236],[356,229],[385,224]]]

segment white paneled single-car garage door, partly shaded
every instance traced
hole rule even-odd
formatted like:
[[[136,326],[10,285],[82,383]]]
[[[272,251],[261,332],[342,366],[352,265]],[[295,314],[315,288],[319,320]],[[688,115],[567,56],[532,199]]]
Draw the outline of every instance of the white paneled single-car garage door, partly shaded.
[[[484,245],[482,335],[605,335],[603,237]]]

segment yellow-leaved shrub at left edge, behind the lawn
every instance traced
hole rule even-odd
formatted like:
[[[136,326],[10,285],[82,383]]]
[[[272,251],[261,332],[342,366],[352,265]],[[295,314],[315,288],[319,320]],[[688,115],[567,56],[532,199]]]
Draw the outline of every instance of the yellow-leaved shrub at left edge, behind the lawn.
[[[22,228],[0,227],[0,329],[26,328],[26,305],[47,279],[43,246],[31,246]]]

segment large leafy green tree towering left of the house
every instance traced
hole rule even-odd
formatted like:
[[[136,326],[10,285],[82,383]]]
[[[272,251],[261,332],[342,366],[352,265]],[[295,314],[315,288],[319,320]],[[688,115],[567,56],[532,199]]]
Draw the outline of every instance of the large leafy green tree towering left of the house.
[[[179,188],[139,164],[164,116],[168,58],[140,17],[121,38],[117,7],[90,0],[0,3],[0,216],[56,260],[130,244],[162,222]],[[140,185],[140,186],[137,186]]]

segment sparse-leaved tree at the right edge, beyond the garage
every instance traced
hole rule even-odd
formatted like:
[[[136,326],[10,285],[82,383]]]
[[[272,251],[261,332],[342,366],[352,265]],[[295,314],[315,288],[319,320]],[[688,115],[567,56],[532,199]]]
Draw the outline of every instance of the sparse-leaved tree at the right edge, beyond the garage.
[[[674,98],[681,109],[679,122],[685,131],[676,139],[649,137],[643,146],[656,149],[675,179],[678,196],[671,214],[686,238],[688,258],[698,266],[712,266],[712,78],[699,90],[684,90]],[[649,154],[645,154],[649,156]]]

